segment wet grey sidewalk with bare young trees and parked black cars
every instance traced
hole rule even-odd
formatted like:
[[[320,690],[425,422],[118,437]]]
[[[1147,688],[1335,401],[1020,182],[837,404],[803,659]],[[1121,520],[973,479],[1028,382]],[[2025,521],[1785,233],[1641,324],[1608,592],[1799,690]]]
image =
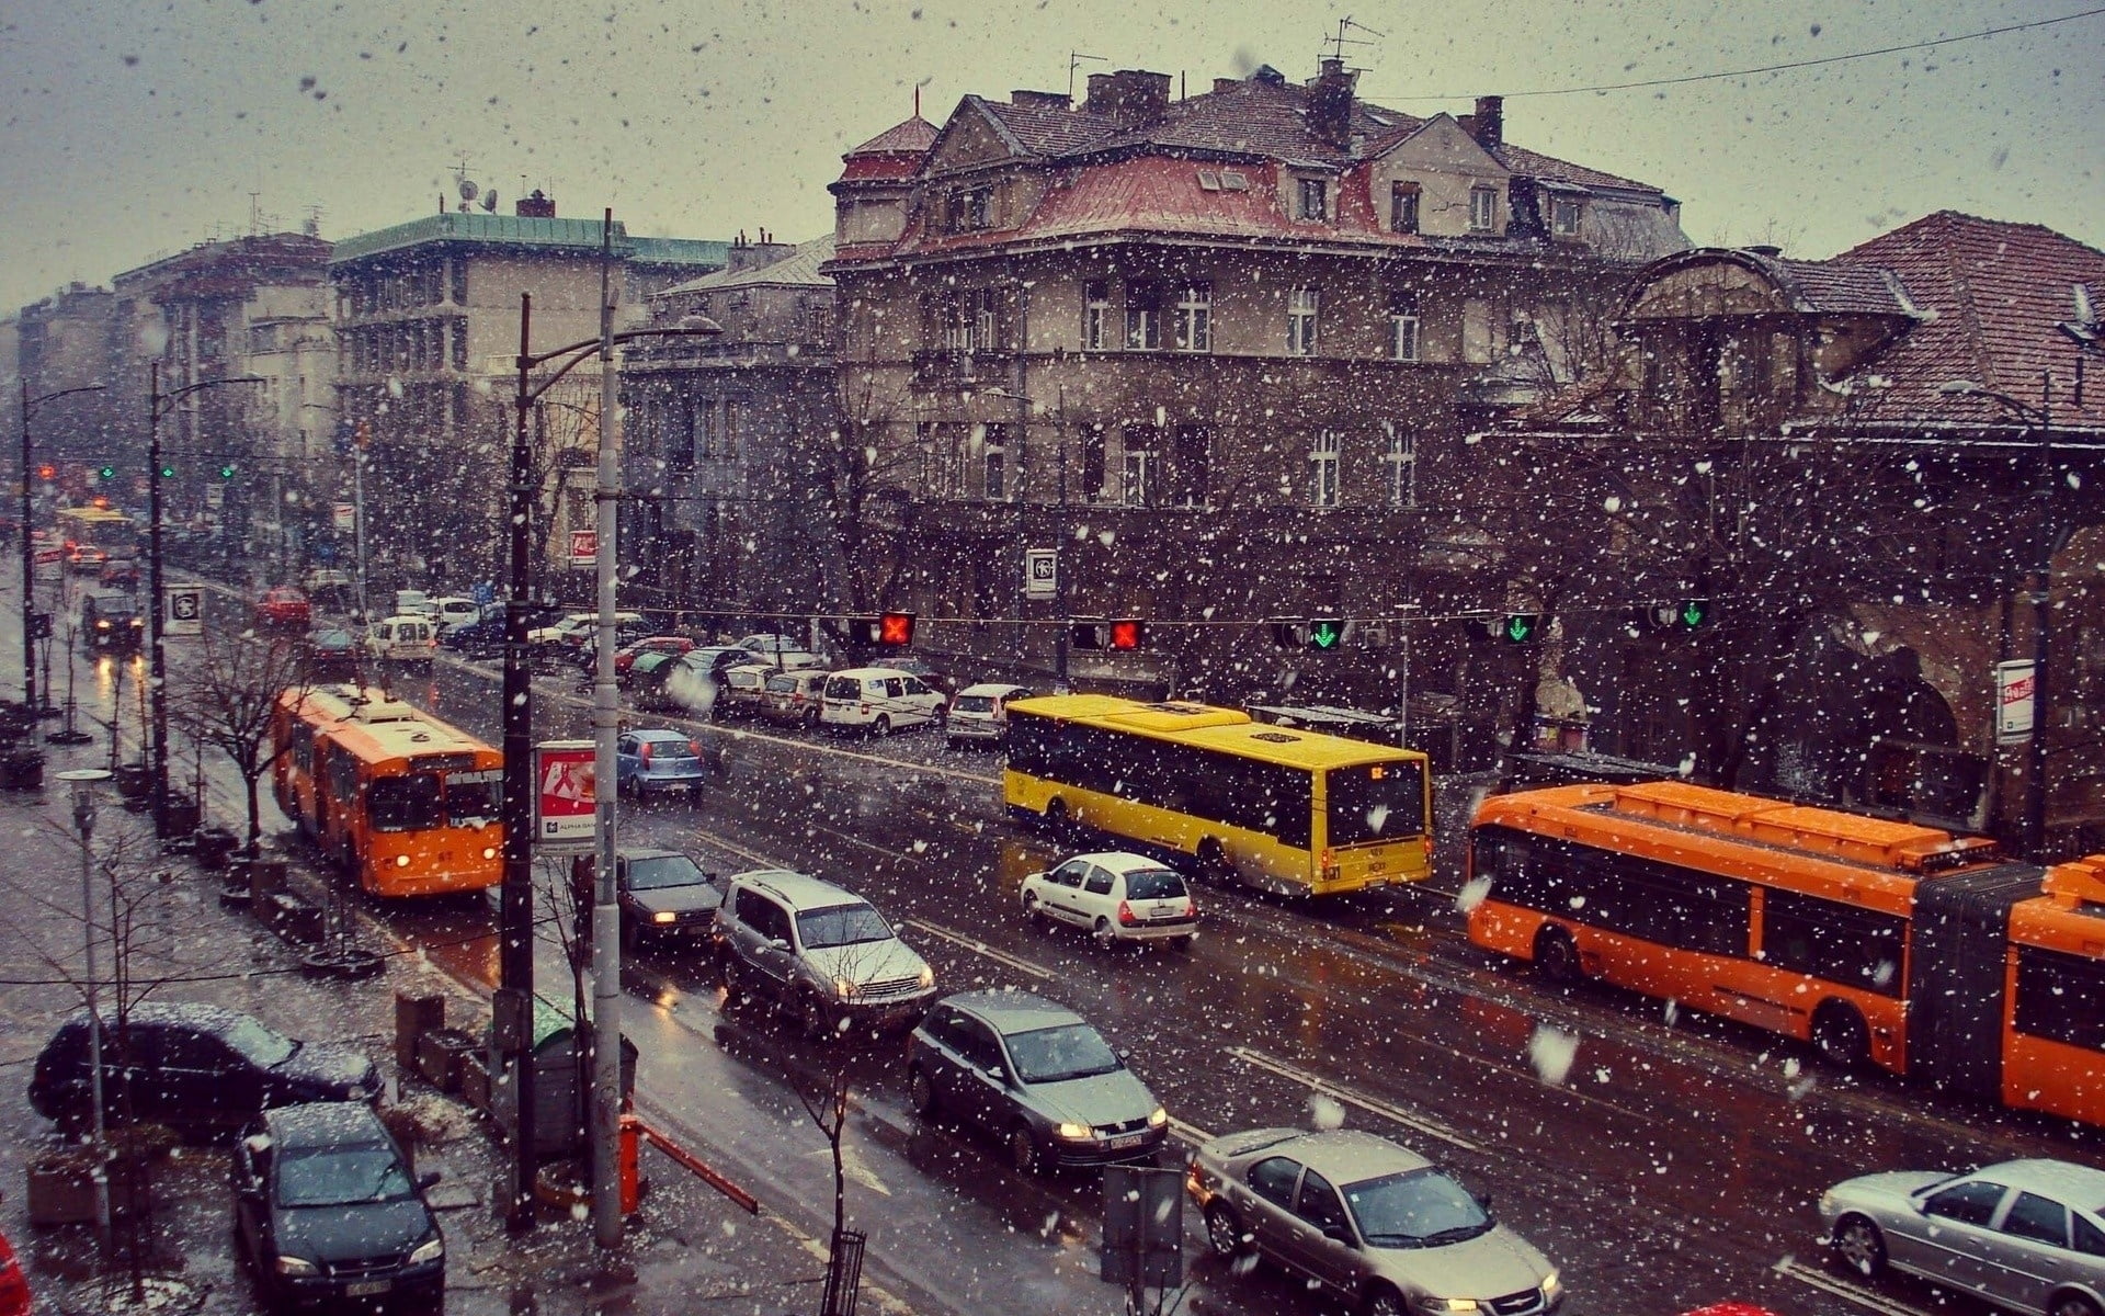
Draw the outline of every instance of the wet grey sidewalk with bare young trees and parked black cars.
[[[80,851],[65,787],[51,781],[67,766],[101,766],[107,750],[51,750],[42,792],[0,794],[0,1232],[23,1259],[40,1312],[101,1312],[88,1280],[93,1230],[32,1230],[25,1204],[27,1162],[59,1145],[51,1124],[27,1103],[29,1068],[59,1019],[80,1009],[82,922]],[[215,813],[221,813],[215,809]],[[232,817],[215,821],[232,823]],[[480,1116],[396,1072],[396,994],[448,998],[453,1019],[486,1013],[467,988],[423,956],[385,948],[385,971],[362,983],[309,981],[297,954],[246,914],[221,910],[217,880],[187,857],[162,859],[149,828],[116,798],[105,800],[97,853],[120,846],[145,893],[135,903],[131,966],[135,983],[162,981],[156,1000],[202,1000],[248,1011],[295,1038],[354,1040],[389,1078],[389,1101],[413,1108],[434,1141],[417,1150],[421,1171],[440,1171],[432,1192],[448,1240],[446,1305],[453,1316],[686,1316],[726,1312],[781,1316],[813,1312],[823,1278],[823,1247],[762,1209],[747,1215],[655,1150],[644,1150],[650,1183],[632,1217],[625,1247],[602,1257],[581,1213],[543,1211],[537,1230],[507,1236],[490,1211],[495,1143]],[[162,876],[166,874],[166,876]],[[307,874],[318,882],[318,874]],[[131,903],[133,886],[126,884]],[[368,943],[375,943],[368,939]],[[377,943],[375,943],[377,945]],[[99,977],[109,977],[103,952]],[[181,981],[168,981],[181,979]],[[107,998],[105,998],[107,1009]],[[709,1148],[695,1148],[703,1158]],[[181,1276],[198,1295],[196,1312],[255,1312],[257,1301],[232,1255],[227,1154],[185,1145],[160,1171],[147,1263]],[[863,1289],[863,1312],[903,1312]]]

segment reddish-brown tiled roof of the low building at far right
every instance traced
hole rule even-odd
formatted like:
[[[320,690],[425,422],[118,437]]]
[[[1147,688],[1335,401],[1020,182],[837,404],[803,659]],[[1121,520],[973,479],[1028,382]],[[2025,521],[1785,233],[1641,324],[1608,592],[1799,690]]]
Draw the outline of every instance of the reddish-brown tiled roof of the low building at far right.
[[[1972,381],[2038,406],[2052,373],[2057,425],[2105,423],[2105,390],[2071,398],[2076,345],[2059,324],[2076,318],[2076,284],[2105,291],[2105,253],[2036,223],[2004,223],[1939,211],[1838,255],[1833,265],[1890,270],[1924,314],[1869,368],[1894,404],[1960,421],[2002,423],[2010,413],[1983,398],[1939,392]]]

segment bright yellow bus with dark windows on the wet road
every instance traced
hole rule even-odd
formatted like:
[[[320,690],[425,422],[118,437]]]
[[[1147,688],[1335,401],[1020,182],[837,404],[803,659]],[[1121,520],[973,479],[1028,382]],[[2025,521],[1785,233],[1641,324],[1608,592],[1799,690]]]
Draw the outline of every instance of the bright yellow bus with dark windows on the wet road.
[[[1425,756],[1204,703],[1057,695],[1008,705],[1010,815],[1095,828],[1282,895],[1425,878]]]

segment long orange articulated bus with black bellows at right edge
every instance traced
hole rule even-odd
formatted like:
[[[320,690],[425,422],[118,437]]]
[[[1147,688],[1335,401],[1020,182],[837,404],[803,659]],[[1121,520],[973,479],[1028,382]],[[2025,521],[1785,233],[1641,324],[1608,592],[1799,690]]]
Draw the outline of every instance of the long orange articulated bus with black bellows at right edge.
[[[2105,1124],[2101,874],[1682,781],[1560,785],[1478,809],[1469,939],[1838,1065]]]

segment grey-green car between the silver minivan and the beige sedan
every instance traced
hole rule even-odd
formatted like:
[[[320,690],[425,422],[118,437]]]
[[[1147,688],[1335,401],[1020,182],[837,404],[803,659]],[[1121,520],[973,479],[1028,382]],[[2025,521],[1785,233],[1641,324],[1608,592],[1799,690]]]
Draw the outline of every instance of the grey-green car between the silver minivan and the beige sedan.
[[[1149,1160],[1168,1112],[1086,1019],[1029,992],[945,996],[907,1038],[907,1093],[1000,1137],[1008,1164]]]

